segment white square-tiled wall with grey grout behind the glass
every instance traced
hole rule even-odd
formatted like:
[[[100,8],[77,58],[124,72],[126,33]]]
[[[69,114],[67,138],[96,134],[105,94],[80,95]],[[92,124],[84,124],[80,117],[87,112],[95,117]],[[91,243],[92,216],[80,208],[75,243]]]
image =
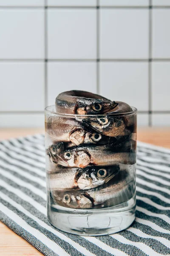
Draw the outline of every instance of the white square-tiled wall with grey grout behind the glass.
[[[169,24],[170,0],[0,0],[0,127],[44,126],[72,89],[170,126]]]

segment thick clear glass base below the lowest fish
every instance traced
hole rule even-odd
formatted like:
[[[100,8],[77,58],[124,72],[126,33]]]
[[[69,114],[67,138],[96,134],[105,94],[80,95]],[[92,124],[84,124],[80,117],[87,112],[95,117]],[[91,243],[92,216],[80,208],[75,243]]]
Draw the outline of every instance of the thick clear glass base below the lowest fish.
[[[59,230],[82,235],[108,235],[126,229],[135,219],[136,198],[104,209],[71,209],[47,205],[48,219]]]

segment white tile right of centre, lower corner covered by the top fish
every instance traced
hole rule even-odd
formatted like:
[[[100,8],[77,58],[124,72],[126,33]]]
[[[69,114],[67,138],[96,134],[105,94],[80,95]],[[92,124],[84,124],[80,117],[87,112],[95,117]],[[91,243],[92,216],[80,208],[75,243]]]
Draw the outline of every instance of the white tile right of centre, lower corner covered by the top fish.
[[[148,110],[147,62],[102,62],[99,81],[101,95]]]

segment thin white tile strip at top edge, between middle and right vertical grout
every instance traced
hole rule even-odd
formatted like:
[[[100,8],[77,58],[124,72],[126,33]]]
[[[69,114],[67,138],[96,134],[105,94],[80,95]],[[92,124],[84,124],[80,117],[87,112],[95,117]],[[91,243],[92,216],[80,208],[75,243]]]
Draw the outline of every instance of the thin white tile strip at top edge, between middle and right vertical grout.
[[[100,6],[148,6],[149,0],[100,0]]]

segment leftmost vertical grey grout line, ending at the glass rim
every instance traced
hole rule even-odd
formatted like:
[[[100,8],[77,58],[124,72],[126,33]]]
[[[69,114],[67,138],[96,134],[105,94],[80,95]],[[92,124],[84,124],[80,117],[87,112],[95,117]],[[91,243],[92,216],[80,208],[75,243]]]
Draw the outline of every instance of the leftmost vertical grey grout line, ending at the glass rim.
[[[45,108],[48,106],[48,77],[47,77],[47,52],[48,52],[48,44],[47,44],[47,0],[44,0],[44,56],[45,56],[45,61],[44,61],[44,104]]]

